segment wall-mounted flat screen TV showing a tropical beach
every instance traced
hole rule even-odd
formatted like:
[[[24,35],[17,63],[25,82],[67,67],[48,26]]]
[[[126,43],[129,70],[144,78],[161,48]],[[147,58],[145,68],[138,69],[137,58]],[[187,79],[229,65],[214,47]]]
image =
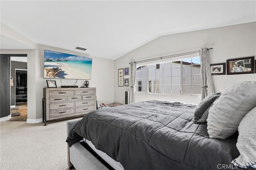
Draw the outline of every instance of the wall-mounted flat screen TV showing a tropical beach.
[[[90,80],[92,58],[44,50],[44,78]]]

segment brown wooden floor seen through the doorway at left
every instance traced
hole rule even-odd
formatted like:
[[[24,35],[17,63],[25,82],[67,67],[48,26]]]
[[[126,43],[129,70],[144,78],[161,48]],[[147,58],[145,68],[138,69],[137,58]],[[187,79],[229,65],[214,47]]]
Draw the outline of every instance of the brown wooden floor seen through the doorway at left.
[[[20,113],[20,116],[14,116],[9,121],[27,121],[28,118],[28,107],[27,103],[16,103],[15,109],[12,108],[10,113]]]

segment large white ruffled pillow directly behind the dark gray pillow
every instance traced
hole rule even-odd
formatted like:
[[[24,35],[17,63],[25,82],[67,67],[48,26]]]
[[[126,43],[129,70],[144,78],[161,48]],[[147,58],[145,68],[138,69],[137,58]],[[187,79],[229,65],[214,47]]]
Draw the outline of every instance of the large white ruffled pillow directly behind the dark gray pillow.
[[[256,106],[256,81],[235,83],[214,101],[209,109],[207,129],[210,138],[228,138],[240,121]]]

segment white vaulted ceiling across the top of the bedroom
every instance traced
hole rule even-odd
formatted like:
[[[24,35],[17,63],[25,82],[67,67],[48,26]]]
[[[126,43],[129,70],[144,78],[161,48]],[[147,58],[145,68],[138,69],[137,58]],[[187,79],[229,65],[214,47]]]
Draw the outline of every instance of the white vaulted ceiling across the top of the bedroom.
[[[256,21],[256,0],[1,0],[0,6],[1,22],[34,43],[84,47],[80,52],[108,59],[160,36]],[[10,41],[1,40],[1,48],[14,48]]]

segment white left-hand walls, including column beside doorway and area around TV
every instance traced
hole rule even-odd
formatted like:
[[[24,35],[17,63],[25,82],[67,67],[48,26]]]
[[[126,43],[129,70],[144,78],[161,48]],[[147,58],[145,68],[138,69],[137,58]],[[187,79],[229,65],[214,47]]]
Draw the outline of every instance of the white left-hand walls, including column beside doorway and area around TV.
[[[1,23],[1,36],[24,44],[28,49],[0,49],[2,54],[27,54],[28,62],[28,119],[27,123],[38,123],[42,121],[42,98],[43,88],[47,87],[46,79],[43,78],[44,71],[44,49],[60,51],[74,55],[85,56],[84,53],[59,49],[46,45],[35,44],[28,38],[12,30]],[[88,56],[92,58],[92,78],[89,87],[96,87],[97,100],[101,103],[114,102],[114,61],[101,57]],[[75,80],[62,80],[62,85],[73,85]],[[56,79],[60,86],[60,79]],[[78,87],[84,86],[84,81],[78,80]]]

